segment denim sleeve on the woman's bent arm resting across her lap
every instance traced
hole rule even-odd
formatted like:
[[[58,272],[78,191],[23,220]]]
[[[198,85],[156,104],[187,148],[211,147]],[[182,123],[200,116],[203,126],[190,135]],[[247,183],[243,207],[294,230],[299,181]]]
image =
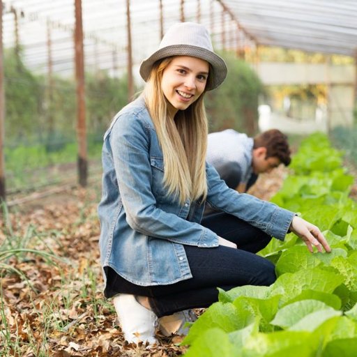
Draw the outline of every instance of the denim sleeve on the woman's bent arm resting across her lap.
[[[218,236],[210,229],[156,206],[149,157],[149,130],[153,129],[133,115],[120,116],[109,137],[128,225],[147,236],[175,243],[204,248],[218,246]]]

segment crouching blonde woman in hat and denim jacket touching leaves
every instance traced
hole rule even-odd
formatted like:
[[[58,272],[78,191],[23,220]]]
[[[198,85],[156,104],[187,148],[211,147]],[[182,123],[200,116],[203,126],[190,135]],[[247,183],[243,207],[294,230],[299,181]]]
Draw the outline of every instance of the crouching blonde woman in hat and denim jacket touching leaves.
[[[204,26],[172,26],[140,75],[144,93],[104,138],[100,252],[126,340],[155,343],[158,318],[211,305],[217,287],[272,284],[273,264],[255,255],[271,236],[290,229],[310,251],[330,247],[317,227],[229,189],[205,163],[204,92],[227,68]],[[206,202],[223,212],[202,220]]]

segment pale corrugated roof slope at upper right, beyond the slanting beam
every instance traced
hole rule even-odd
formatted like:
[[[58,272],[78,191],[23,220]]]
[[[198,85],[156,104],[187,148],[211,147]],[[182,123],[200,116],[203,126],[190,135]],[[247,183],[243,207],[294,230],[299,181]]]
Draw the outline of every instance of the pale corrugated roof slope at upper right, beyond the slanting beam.
[[[357,55],[357,1],[225,0],[257,45]]]

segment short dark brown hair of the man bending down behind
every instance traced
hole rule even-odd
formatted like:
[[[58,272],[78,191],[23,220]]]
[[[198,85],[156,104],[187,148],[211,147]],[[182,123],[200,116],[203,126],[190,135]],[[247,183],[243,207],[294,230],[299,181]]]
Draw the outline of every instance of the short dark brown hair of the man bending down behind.
[[[278,158],[285,166],[290,164],[291,151],[287,142],[287,135],[284,135],[280,130],[266,130],[255,136],[253,149],[261,146],[266,148],[266,158]]]

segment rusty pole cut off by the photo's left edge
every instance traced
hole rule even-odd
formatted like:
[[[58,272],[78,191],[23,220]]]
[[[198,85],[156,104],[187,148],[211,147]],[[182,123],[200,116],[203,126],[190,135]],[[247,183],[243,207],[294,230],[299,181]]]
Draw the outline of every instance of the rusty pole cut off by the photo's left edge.
[[[3,2],[0,0],[0,201],[5,202],[5,89],[3,83]]]

